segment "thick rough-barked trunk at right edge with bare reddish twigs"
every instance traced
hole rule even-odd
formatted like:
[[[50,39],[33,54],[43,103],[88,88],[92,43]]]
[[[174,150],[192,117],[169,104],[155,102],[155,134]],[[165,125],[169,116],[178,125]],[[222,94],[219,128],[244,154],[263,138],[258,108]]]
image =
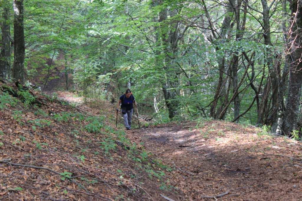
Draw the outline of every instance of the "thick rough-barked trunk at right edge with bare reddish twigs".
[[[296,130],[302,84],[302,0],[291,2],[290,50],[291,64],[289,70],[288,99],[282,123],[284,135]]]

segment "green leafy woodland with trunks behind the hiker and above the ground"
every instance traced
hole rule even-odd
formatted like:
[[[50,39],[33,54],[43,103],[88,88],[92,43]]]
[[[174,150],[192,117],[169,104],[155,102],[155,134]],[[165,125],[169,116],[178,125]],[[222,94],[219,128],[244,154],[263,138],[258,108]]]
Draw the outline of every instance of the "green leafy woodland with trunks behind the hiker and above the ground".
[[[85,102],[131,88],[146,119],[265,126],[301,140],[300,0],[12,0],[0,74]]]

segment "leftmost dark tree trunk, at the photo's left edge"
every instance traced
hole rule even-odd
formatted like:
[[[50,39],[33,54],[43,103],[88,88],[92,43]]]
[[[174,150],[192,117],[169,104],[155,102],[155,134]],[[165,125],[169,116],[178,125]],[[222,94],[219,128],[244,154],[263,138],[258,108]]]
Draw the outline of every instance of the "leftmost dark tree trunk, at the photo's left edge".
[[[10,50],[10,30],[8,22],[9,8],[4,5],[3,14],[2,14],[2,40],[0,48],[0,77],[5,78],[9,75],[10,64],[9,59],[11,56]]]

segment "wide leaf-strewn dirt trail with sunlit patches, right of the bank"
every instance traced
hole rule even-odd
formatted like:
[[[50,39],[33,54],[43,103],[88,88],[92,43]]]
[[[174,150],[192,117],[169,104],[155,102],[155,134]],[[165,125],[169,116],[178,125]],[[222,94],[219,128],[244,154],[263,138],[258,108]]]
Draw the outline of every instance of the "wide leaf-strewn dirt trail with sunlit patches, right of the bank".
[[[256,134],[258,132],[258,135]],[[128,132],[174,170],[179,200],[301,200],[301,144],[224,121],[168,124]],[[215,199],[215,198],[214,198]],[[213,200],[213,199],[212,199]]]

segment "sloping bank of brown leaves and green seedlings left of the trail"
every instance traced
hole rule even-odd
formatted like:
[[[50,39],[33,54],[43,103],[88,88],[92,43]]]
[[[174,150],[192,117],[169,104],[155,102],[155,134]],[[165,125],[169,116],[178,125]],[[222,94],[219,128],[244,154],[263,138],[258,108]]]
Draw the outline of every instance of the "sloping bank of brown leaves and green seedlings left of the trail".
[[[178,199],[169,168],[110,125],[108,102],[74,108],[11,87],[0,83],[1,200]]]

